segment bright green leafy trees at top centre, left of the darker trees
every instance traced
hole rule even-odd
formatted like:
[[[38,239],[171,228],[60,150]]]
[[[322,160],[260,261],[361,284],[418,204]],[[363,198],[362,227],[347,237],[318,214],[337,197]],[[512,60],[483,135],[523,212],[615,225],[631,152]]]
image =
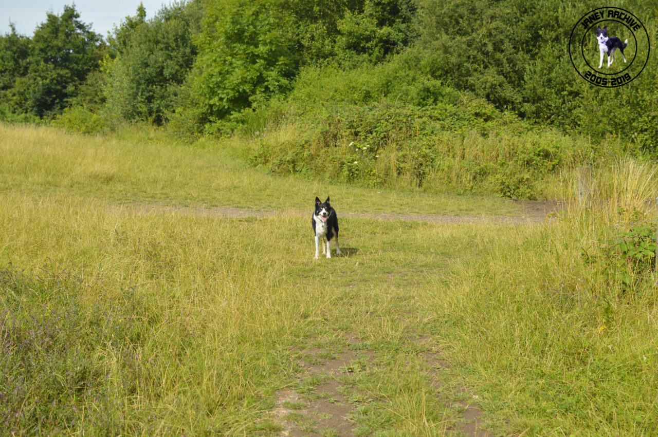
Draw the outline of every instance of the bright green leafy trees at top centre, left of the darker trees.
[[[207,3],[192,87],[213,124],[290,91],[305,65],[380,62],[413,39],[410,0]]]

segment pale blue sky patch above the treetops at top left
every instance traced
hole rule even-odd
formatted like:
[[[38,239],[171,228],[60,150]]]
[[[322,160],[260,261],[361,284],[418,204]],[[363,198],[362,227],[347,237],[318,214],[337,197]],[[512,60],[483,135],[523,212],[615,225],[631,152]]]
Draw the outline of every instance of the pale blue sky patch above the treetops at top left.
[[[76,5],[80,20],[91,24],[97,34],[107,37],[107,32],[118,26],[126,16],[136,14],[140,0],[0,0],[0,34],[10,32],[9,22],[16,24],[16,33],[32,37],[34,30],[45,21],[46,12],[61,15],[64,5]],[[141,0],[146,9],[146,18],[169,0]]]

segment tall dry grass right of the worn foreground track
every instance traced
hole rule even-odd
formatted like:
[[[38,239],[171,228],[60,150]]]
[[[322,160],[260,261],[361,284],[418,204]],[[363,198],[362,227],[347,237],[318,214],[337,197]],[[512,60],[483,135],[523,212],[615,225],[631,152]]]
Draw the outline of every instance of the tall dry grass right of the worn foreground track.
[[[456,324],[445,350],[478,380],[486,407],[528,435],[649,435],[658,415],[658,276],[615,279],[632,222],[656,229],[656,167],[622,158],[592,175],[591,198],[540,227],[472,241],[451,293],[431,308]],[[611,249],[612,248],[612,249]]]

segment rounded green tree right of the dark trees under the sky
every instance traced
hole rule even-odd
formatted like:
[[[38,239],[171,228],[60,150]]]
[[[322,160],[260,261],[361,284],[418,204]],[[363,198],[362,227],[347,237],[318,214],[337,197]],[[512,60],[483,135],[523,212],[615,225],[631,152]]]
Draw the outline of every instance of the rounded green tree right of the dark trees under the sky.
[[[110,38],[116,58],[105,61],[107,103],[127,120],[161,123],[174,110],[180,86],[197,54],[193,35],[200,20],[199,2],[172,3],[145,21],[140,5]]]

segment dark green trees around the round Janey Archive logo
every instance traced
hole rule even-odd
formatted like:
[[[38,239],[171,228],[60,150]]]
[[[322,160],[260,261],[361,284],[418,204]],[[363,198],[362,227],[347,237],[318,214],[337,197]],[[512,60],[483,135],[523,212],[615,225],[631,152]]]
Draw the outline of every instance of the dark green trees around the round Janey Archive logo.
[[[615,89],[587,83],[572,67],[566,49],[572,28],[600,6],[594,1],[419,0],[420,36],[411,51],[430,66],[425,69],[430,78],[499,109],[574,133],[617,134],[655,152],[655,62],[633,83]],[[658,31],[657,3],[626,0],[615,6],[639,16],[649,35]]]

